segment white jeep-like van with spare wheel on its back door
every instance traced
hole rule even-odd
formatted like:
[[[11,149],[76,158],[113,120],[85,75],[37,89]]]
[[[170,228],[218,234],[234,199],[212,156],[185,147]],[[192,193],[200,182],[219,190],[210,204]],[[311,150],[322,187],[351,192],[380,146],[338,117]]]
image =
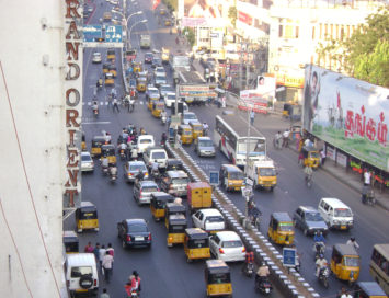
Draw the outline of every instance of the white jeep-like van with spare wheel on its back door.
[[[65,264],[66,283],[73,297],[75,294],[99,293],[99,275],[93,253],[68,254]]]

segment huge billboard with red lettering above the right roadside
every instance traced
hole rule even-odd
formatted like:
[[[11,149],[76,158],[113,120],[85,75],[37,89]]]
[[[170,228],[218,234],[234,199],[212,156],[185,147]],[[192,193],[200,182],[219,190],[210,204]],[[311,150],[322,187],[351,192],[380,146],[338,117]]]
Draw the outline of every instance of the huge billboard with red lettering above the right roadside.
[[[389,89],[307,66],[304,128],[389,172]]]

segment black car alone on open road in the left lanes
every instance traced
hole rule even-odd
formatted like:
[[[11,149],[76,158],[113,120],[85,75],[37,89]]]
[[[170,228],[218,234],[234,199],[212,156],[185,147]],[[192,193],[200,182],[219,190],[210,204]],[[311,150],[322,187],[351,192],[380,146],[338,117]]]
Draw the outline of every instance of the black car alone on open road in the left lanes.
[[[117,222],[117,236],[124,249],[151,247],[151,233],[145,219],[125,219]]]

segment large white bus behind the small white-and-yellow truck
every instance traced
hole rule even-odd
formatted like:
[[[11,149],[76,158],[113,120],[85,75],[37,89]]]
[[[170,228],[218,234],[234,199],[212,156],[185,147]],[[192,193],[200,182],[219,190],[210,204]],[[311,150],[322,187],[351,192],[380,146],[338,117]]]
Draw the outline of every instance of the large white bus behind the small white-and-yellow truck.
[[[248,139],[248,124],[234,114],[216,116],[214,144],[233,164],[240,168],[245,165],[248,144],[250,160],[261,160],[266,157],[266,138],[251,128]]]

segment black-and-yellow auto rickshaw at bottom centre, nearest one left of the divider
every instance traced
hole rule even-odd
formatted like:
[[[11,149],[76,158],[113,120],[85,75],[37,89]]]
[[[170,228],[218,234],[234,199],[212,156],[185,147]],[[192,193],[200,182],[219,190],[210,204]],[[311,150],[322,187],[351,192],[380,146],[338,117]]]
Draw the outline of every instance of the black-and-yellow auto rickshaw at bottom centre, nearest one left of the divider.
[[[222,260],[207,260],[205,262],[205,284],[207,297],[232,297],[230,268]]]

